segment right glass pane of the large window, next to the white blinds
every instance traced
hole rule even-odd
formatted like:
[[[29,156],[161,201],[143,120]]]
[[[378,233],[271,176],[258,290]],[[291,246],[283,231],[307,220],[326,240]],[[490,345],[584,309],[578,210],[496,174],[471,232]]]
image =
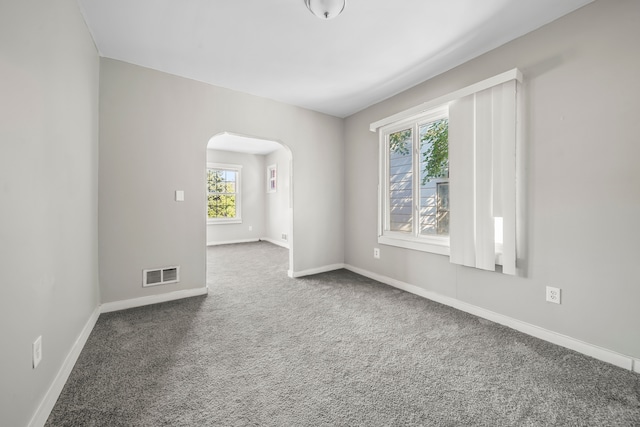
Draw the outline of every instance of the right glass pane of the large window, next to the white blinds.
[[[420,234],[449,234],[449,122],[419,127]]]

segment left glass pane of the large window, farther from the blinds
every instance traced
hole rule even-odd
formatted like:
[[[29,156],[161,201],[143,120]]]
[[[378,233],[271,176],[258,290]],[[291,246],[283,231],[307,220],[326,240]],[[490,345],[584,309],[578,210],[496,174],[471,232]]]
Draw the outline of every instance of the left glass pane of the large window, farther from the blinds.
[[[389,213],[390,230],[413,229],[412,130],[389,135]]]

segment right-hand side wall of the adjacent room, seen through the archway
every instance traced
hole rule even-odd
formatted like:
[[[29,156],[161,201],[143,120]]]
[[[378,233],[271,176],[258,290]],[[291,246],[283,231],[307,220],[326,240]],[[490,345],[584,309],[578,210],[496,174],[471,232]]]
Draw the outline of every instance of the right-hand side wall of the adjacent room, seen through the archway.
[[[277,190],[274,193],[267,193],[265,196],[264,237],[279,242],[284,246],[289,245],[288,239],[282,239],[283,234],[289,235],[289,163],[289,153],[285,148],[264,156],[265,179],[267,167],[274,164],[277,166]]]

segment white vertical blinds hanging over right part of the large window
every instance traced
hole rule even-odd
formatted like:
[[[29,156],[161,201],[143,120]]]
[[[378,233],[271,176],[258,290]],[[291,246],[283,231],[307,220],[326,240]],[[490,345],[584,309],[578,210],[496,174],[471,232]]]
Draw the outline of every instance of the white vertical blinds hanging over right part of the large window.
[[[516,96],[510,80],[449,106],[454,264],[494,271],[499,262],[503,273],[516,274]]]

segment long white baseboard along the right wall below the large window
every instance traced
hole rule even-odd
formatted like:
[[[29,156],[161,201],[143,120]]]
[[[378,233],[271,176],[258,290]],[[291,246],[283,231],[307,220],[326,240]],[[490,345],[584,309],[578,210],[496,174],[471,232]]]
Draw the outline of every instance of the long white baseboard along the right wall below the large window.
[[[612,365],[618,366],[620,368],[640,372],[640,360],[634,360],[630,356],[625,356],[606,348],[598,347],[596,345],[589,344],[584,341],[580,341],[575,338],[562,335],[557,332],[553,332],[548,329],[544,329],[509,316],[505,316],[503,314],[495,313],[493,311],[460,301],[455,298],[427,291],[418,286],[410,285],[409,283],[401,282],[400,280],[396,280],[391,277],[372,273],[370,271],[363,270],[361,268],[354,267],[348,264],[345,265],[344,268],[370,279],[377,280],[378,282],[382,282],[395,288],[402,289],[403,291],[407,291],[412,294],[430,299],[432,301],[456,308],[460,311],[464,311],[475,316],[490,320],[492,322],[499,323],[517,331],[523,332],[527,335],[531,335],[533,337],[540,338],[553,344],[577,351],[578,353],[586,354],[587,356],[591,356],[594,359],[611,363]]]

